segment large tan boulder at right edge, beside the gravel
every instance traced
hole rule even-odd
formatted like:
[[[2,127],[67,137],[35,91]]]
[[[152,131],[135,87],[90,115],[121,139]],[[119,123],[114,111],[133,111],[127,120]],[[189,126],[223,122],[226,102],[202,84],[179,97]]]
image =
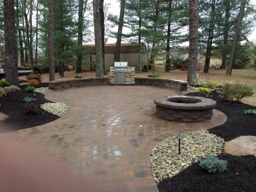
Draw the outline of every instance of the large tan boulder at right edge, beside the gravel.
[[[233,156],[254,155],[256,151],[256,136],[240,136],[224,144],[224,153]]]

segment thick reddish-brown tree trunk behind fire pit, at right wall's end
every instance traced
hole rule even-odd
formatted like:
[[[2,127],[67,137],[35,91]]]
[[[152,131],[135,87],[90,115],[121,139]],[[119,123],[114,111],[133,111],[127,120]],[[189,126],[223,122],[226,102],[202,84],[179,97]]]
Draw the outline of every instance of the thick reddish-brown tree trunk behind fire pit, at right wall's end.
[[[192,85],[197,78],[198,51],[198,0],[189,0],[189,55],[188,55],[188,84]]]

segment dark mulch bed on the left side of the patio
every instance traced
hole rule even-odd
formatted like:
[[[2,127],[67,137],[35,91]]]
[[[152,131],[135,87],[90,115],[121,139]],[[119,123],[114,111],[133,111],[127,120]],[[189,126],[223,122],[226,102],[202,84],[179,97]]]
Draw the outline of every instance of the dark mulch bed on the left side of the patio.
[[[40,93],[25,92],[25,86],[20,86],[22,91],[9,92],[7,96],[0,97],[0,112],[9,116],[9,118],[0,122],[0,132],[35,127],[59,118],[59,116],[48,113],[39,107],[41,104],[50,103],[51,101],[45,99],[44,95]],[[47,86],[47,84],[39,84],[38,87],[42,86]],[[24,112],[25,102],[23,102],[23,99],[26,96],[37,99],[37,114],[27,115]]]

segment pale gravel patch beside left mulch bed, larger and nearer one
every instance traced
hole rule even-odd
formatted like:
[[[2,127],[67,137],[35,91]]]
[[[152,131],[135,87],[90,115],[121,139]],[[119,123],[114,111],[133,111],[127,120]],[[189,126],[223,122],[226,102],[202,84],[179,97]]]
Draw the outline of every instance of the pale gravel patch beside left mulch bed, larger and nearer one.
[[[40,105],[40,107],[59,117],[65,115],[69,110],[68,105],[65,103],[45,103]]]

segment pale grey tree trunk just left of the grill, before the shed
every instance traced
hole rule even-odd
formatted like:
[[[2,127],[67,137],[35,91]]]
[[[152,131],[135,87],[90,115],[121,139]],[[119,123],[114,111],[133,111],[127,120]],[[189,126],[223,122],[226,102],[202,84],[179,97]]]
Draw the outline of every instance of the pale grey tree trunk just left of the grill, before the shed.
[[[99,13],[99,0],[93,0],[93,21],[95,36],[95,54],[96,54],[96,77],[103,77],[103,52],[102,52],[102,30]]]

